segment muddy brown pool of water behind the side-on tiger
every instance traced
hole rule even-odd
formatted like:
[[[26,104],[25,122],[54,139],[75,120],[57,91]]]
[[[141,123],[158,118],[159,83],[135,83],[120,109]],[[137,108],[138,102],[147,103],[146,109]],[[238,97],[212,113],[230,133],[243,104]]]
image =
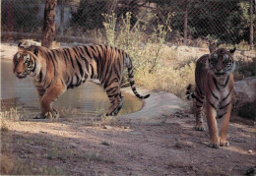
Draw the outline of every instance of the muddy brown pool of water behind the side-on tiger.
[[[141,109],[143,102],[133,94],[124,93],[124,105],[118,115],[132,113]],[[1,60],[1,99],[9,102],[12,107],[40,112],[38,95],[32,84],[32,78],[19,80],[13,74],[13,64],[10,60]],[[57,110],[76,109],[83,113],[98,115],[107,111],[110,105],[104,89],[92,82],[79,88],[68,89],[53,107]]]

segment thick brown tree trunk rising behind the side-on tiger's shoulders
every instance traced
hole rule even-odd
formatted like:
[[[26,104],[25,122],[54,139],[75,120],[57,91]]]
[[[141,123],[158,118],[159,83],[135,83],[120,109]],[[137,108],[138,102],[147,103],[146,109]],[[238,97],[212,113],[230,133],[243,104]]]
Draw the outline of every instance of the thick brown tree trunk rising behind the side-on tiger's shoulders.
[[[46,0],[42,28],[41,45],[47,48],[52,47],[55,38],[55,6],[57,0]]]

